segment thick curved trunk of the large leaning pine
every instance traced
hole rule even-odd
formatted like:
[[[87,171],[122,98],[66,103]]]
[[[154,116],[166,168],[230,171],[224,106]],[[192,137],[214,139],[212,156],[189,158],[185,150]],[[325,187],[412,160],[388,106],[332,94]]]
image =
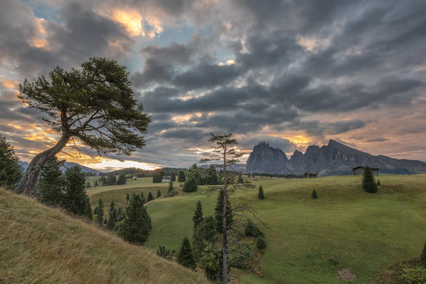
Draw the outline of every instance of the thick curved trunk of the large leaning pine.
[[[63,133],[61,139],[55,144],[55,146],[36,154],[36,157],[33,157],[28,169],[26,169],[24,177],[22,177],[21,182],[19,182],[18,186],[16,186],[16,194],[31,194],[34,186],[36,186],[38,174],[40,174],[44,164],[46,164],[48,159],[58,154],[58,152],[65,147],[66,143],[70,140],[70,137],[71,135],[69,133]]]

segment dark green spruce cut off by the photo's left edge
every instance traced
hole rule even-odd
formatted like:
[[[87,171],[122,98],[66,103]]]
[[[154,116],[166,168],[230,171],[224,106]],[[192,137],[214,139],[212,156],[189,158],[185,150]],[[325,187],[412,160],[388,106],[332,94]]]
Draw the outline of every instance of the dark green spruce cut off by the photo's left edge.
[[[6,136],[0,135],[0,187],[14,189],[22,177],[21,171],[14,147],[11,147]]]

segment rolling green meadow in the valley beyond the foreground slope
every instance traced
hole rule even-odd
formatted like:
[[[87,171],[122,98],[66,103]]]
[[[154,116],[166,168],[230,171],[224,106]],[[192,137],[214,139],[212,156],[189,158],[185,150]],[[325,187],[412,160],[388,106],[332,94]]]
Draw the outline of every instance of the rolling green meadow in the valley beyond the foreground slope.
[[[262,228],[267,247],[259,263],[263,277],[233,270],[239,283],[346,283],[336,278],[343,268],[356,275],[354,283],[369,283],[388,265],[417,258],[426,241],[426,175],[379,176],[378,194],[365,193],[358,176],[255,179],[256,188],[241,196],[267,226]],[[99,198],[105,207],[112,199],[125,206],[125,195],[132,191],[145,196],[149,191],[156,196],[157,189],[167,192],[167,183],[150,181],[87,192],[93,206]],[[260,184],[264,200],[257,199]],[[318,199],[311,198],[313,189]],[[145,246],[177,249],[183,236],[192,237],[197,201],[202,201],[204,214],[213,214],[217,196],[207,192],[199,186],[199,192],[180,191],[147,204],[153,228]]]

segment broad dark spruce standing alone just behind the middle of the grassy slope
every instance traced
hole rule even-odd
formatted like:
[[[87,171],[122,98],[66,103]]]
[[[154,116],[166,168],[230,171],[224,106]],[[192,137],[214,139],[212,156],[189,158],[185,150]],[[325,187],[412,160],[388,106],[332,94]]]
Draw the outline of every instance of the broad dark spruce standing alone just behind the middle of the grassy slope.
[[[143,245],[150,235],[151,219],[140,195],[133,192],[119,234],[125,241]]]

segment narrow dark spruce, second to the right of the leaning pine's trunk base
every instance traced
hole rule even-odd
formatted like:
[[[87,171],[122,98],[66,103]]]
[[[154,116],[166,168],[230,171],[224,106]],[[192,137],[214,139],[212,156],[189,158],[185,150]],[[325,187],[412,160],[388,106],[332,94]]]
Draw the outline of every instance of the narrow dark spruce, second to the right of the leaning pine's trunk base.
[[[65,172],[66,190],[63,206],[71,214],[92,219],[89,196],[85,194],[85,174],[79,166],[71,167]]]

